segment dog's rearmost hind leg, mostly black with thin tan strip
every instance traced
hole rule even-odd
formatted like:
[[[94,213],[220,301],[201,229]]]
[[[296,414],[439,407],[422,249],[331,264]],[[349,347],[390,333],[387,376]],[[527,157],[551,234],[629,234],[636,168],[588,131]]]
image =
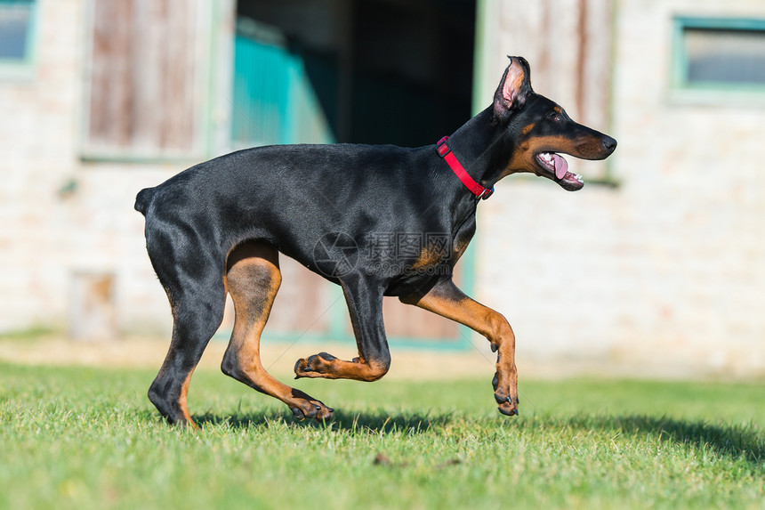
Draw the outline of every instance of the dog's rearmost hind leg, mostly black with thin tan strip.
[[[162,368],[149,387],[149,400],[171,424],[196,426],[186,403],[189,381],[202,352],[220,327],[226,304],[222,278],[184,279],[183,291],[168,290],[173,339]]]

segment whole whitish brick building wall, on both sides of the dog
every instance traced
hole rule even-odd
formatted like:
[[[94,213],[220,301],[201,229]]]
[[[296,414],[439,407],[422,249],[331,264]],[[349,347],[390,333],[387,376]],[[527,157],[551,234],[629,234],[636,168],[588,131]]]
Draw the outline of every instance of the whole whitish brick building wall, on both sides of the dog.
[[[576,2],[556,1],[560,16],[575,15]],[[0,332],[65,328],[82,271],[114,276],[121,331],[170,327],[133,200],[188,165],[81,160],[85,4],[40,2],[35,76],[0,78]],[[486,104],[505,55],[534,53],[534,40],[503,33],[520,4],[485,3]],[[619,186],[501,182],[479,206],[477,297],[511,320],[520,360],[761,376],[765,101],[684,97],[669,73],[673,15],[765,19],[765,4],[614,6],[612,120],[594,127],[619,142],[609,162]]]

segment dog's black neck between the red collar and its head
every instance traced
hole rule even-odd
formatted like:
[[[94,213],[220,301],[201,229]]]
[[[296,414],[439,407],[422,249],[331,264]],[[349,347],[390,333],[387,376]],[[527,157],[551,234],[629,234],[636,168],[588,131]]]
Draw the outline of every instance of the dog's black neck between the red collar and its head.
[[[511,156],[504,127],[492,122],[493,107],[472,117],[449,136],[449,148],[475,182],[491,189],[502,178]]]

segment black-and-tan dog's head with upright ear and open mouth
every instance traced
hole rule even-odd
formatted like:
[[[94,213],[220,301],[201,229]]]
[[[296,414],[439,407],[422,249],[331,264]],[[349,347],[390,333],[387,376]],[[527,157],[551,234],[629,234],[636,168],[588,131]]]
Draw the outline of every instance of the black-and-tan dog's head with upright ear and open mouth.
[[[496,89],[492,122],[503,130],[512,148],[502,176],[529,172],[558,182],[564,190],[580,190],[582,178],[568,172],[560,153],[581,159],[605,159],[616,140],[577,124],[558,104],[531,88],[531,69],[522,57],[509,57]]]

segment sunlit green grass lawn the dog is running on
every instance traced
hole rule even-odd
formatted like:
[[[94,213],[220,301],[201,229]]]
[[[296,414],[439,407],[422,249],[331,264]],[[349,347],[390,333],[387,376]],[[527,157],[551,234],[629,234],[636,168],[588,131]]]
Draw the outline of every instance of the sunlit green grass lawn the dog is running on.
[[[297,381],[318,425],[199,371],[189,432],[153,376],[0,365],[0,507],[765,508],[763,385]]]

